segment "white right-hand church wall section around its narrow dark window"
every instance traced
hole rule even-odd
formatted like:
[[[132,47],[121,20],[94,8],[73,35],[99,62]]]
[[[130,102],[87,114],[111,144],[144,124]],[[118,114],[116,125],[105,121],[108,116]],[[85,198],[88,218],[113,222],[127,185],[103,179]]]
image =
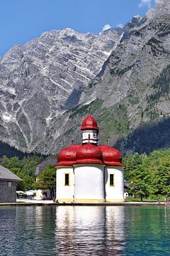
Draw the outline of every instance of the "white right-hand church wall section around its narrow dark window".
[[[114,186],[110,186],[110,174],[114,174]],[[124,199],[124,178],[123,168],[106,166],[106,201],[109,199]]]

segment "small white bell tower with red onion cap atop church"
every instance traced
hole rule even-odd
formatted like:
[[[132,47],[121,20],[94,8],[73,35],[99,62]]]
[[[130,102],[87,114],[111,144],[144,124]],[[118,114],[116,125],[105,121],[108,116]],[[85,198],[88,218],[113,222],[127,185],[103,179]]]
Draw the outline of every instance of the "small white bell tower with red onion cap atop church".
[[[98,126],[96,120],[89,114],[81,124],[82,144],[90,142],[97,144]]]

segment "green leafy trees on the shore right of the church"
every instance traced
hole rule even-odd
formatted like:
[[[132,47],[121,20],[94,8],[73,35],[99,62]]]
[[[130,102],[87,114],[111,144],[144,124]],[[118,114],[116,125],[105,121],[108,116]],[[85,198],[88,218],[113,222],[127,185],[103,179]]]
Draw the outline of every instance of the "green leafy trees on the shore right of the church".
[[[129,193],[143,198],[170,196],[170,149],[147,154],[128,154],[123,159],[125,181],[132,182]]]

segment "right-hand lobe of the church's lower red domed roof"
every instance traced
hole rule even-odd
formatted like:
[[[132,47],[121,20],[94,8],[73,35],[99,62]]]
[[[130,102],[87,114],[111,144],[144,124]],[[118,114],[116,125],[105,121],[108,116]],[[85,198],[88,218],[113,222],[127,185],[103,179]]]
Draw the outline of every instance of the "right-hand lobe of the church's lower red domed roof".
[[[122,154],[120,151],[118,151],[118,149],[114,149],[108,145],[98,146],[98,149],[101,150],[104,164],[108,166],[123,166],[121,163]]]

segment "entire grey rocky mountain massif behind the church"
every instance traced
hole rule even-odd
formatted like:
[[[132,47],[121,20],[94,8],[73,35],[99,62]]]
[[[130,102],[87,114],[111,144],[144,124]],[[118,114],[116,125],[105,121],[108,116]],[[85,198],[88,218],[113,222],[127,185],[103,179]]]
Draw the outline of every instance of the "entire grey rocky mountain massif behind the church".
[[[0,139],[56,153],[90,112],[100,143],[142,153],[170,146],[170,3],[99,36],[50,31],[0,59]]]

